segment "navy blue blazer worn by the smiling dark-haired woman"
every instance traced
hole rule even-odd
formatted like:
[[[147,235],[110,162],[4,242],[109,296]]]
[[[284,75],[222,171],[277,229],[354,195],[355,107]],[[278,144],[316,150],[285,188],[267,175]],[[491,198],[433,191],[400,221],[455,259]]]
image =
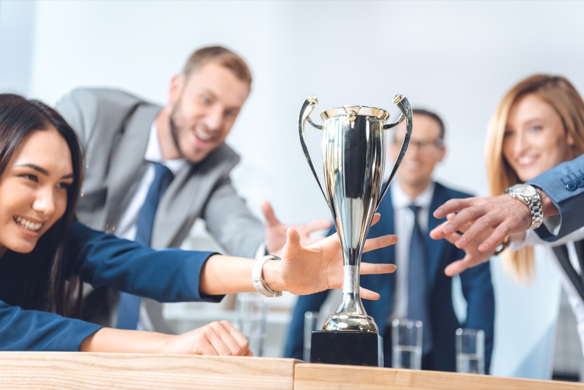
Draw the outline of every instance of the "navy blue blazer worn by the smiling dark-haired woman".
[[[213,252],[153,250],[76,222],[68,255],[74,259],[74,276],[94,287],[107,285],[164,302],[223,298],[199,294],[201,269]],[[14,272],[18,261],[19,253],[11,251],[0,257],[0,350],[78,351],[102,326],[16,306],[28,287],[26,275]]]

